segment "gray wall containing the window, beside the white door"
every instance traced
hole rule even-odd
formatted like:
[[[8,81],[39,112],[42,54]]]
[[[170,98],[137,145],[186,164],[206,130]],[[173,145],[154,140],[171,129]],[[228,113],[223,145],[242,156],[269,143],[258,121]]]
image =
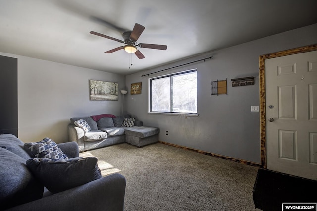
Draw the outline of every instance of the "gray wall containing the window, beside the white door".
[[[234,35],[233,35],[234,36]],[[261,163],[259,112],[259,55],[317,43],[317,24],[277,34],[226,49],[211,51],[144,72],[127,75],[126,87],[142,82],[142,93],[125,96],[125,111],[137,116],[144,125],[160,128],[159,140],[232,158]],[[168,51],[168,50],[167,50]],[[199,60],[141,77],[146,73]],[[148,80],[151,77],[197,68],[198,117],[148,113]],[[255,77],[255,85],[232,87],[231,79]],[[228,79],[228,95],[210,95],[210,81]],[[166,130],[169,135],[165,135]]]

